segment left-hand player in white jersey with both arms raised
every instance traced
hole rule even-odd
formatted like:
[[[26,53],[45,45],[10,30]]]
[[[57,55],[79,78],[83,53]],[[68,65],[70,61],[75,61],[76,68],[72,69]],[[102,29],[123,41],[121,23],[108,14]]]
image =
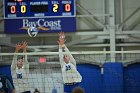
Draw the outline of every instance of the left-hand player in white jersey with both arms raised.
[[[17,44],[15,52],[18,53],[20,49],[22,49],[23,52],[26,53],[27,43],[22,42],[20,44]],[[29,63],[27,60],[27,55],[14,55],[11,64],[11,74],[17,93],[31,93],[28,83]]]

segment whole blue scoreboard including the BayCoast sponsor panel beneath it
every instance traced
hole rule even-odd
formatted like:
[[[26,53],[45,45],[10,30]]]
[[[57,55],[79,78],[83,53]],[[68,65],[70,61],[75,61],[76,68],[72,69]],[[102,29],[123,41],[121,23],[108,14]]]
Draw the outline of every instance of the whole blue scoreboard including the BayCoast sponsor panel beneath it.
[[[75,0],[3,0],[6,34],[76,31]],[[16,25],[15,25],[16,24]],[[34,28],[31,30],[31,28]],[[42,29],[38,29],[42,28]]]

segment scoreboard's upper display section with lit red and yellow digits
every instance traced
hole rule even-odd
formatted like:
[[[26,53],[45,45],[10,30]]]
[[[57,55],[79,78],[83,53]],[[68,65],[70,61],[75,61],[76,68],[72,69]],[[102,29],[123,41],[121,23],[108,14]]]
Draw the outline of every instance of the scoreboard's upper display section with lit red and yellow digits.
[[[75,17],[75,0],[4,0],[5,19]]]

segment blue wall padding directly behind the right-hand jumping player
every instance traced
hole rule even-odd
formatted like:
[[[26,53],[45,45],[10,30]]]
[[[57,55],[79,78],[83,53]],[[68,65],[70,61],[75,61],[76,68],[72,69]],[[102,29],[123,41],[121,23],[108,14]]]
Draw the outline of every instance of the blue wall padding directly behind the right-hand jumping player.
[[[100,67],[91,64],[77,65],[77,69],[82,75],[82,82],[76,85],[65,85],[64,91],[71,93],[72,89],[76,86],[84,88],[85,93],[102,93]]]

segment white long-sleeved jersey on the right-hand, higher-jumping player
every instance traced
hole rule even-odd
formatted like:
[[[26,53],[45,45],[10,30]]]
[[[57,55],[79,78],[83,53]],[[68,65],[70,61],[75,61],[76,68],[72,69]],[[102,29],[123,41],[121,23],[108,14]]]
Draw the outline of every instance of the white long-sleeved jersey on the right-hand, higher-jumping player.
[[[62,69],[62,77],[64,83],[76,83],[82,81],[82,76],[76,69],[76,61],[71,55],[68,48],[65,46],[65,52],[70,57],[69,63],[65,63],[63,59],[62,48],[59,46],[59,60]]]

